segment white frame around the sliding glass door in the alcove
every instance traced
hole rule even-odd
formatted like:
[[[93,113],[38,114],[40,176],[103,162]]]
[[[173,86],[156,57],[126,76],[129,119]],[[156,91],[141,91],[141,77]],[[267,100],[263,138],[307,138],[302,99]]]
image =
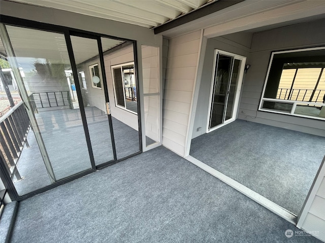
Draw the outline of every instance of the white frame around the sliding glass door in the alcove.
[[[217,58],[218,54],[231,56],[234,59],[241,60],[241,66],[240,66],[240,69],[239,69],[239,77],[238,77],[239,79],[238,79],[237,90],[236,90],[236,94],[235,94],[234,109],[233,109],[232,117],[230,119],[226,120],[226,121],[223,121],[222,124],[220,124],[220,125],[218,125],[218,126],[216,126],[214,128],[209,129],[211,105],[212,105],[211,99],[212,99],[212,95],[213,95],[214,76],[215,76],[216,64],[217,64],[216,63],[216,58]],[[240,55],[237,55],[237,54],[234,54],[234,53],[214,49],[213,73],[212,73],[211,86],[210,86],[209,110],[208,110],[208,119],[207,119],[207,124],[206,124],[206,133],[212,132],[212,131],[214,131],[214,130],[220,128],[220,127],[223,127],[224,125],[230,124],[232,121],[236,120],[236,114],[237,114],[238,106],[239,106],[239,96],[240,96],[240,91],[241,91],[242,82],[243,82],[245,64],[246,64],[246,57],[244,57],[244,56],[240,56]],[[232,77],[230,77],[230,79],[231,78]],[[227,100],[225,102],[228,102],[228,95],[227,95]],[[226,103],[225,103],[225,105],[226,105]]]

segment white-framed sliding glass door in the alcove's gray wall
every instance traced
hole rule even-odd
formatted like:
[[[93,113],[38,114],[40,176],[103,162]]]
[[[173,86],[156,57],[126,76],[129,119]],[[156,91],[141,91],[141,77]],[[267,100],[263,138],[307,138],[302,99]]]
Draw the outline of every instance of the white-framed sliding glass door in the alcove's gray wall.
[[[245,59],[215,50],[207,132],[235,120]]]

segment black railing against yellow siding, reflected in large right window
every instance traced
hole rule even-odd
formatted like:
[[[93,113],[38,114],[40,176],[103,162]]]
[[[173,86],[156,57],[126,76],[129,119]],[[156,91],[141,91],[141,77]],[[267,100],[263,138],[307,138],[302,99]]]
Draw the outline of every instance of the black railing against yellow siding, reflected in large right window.
[[[278,89],[277,99],[309,102],[323,102],[325,90]]]

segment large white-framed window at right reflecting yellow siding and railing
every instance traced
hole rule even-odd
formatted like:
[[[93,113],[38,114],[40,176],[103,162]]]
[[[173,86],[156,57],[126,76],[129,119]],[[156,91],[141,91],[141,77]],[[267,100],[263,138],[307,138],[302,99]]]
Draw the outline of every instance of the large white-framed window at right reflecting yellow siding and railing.
[[[325,119],[325,47],[273,52],[259,110]]]

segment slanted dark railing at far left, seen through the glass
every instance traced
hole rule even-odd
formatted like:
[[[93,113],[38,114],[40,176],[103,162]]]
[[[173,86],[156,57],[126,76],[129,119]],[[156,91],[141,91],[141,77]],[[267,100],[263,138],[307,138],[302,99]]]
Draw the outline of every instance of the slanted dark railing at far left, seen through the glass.
[[[22,101],[0,118],[0,129],[1,160],[11,178],[15,176],[17,180],[20,180],[21,176],[17,170],[17,162],[24,144],[29,147],[26,139],[29,130],[29,119]]]

